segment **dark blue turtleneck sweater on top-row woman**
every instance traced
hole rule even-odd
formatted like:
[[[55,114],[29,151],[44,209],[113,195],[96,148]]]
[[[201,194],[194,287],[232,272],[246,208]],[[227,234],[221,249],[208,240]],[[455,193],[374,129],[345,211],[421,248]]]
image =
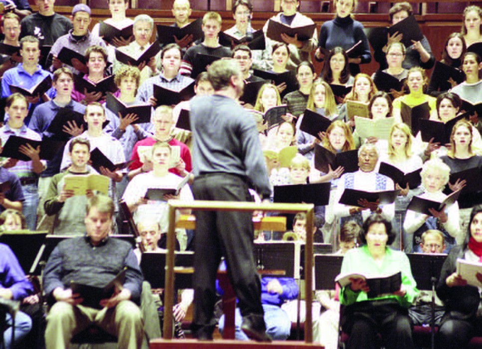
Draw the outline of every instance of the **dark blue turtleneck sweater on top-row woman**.
[[[331,50],[336,46],[340,46],[345,50],[350,49],[358,41],[361,43],[349,55],[351,58],[361,58],[361,64],[370,63],[372,55],[368,39],[363,32],[363,25],[353,20],[350,16],[328,20],[323,23],[320,29],[320,37],[318,46]],[[350,73],[355,76],[360,72],[358,64],[350,64]]]

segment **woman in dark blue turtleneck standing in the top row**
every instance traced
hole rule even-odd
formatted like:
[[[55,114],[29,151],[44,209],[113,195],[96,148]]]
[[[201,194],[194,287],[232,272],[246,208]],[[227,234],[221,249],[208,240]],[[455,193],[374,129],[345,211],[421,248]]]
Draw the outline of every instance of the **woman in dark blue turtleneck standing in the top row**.
[[[322,60],[326,58],[323,54],[326,50],[339,46],[347,51],[357,45],[353,49],[352,57],[347,60],[352,75],[360,72],[360,64],[370,63],[372,60],[368,39],[363,31],[363,24],[354,20],[351,16],[356,5],[357,0],[334,1],[336,17],[321,25],[318,49],[315,52],[316,59]],[[326,59],[326,62],[329,62],[329,60]]]

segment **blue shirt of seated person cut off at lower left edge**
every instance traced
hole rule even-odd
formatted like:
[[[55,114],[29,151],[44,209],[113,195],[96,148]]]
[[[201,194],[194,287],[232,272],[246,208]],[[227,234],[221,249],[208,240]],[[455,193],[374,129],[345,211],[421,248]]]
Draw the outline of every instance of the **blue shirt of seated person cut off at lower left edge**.
[[[0,288],[9,289],[14,300],[21,300],[33,292],[17,258],[5,244],[0,244]]]

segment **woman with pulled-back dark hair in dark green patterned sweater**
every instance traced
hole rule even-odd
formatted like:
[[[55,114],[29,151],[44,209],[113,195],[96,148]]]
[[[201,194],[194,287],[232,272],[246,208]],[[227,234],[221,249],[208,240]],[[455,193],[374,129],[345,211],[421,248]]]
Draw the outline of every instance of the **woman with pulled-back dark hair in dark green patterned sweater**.
[[[306,109],[311,86],[316,79],[313,64],[309,62],[301,62],[296,68],[296,78],[298,79],[299,89],[284,96],[283,104],[286,104],[289,113],[297,118]]]

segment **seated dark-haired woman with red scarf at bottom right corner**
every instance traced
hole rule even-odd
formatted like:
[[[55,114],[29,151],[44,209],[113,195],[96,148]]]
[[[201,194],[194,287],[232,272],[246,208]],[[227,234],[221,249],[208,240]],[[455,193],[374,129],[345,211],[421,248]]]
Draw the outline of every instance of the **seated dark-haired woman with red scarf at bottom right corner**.
[[[464,279],[457,273],[458,260],[479,264],[482,258],[482,206],[477,205],[470,214],[465,230],[465,241],[455,246],[445,260],[437,285],[437,296],[446,306],[446,313],[437,333],[438,349],[467,348],[472,337],[480,334],[481,306],[480,281]],[[474,271],[477,280],[480,273]]]

